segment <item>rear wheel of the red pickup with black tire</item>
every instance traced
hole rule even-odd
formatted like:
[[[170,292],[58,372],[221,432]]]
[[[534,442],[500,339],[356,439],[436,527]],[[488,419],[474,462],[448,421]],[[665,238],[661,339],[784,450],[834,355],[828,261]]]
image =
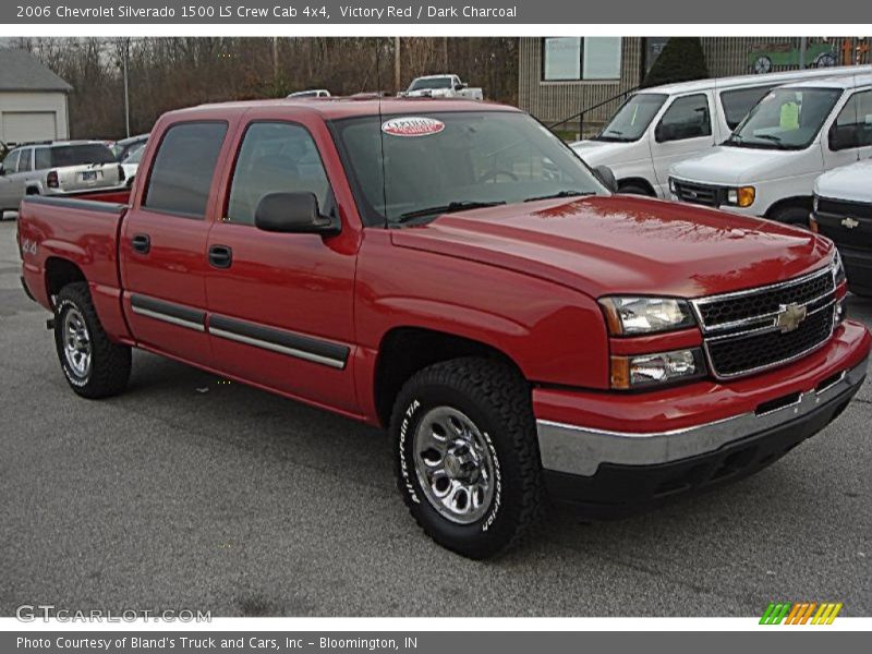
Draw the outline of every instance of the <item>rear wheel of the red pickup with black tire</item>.
[[[83,326],[84,332],[78,334],[84,334],[86,338],[80,338],[76,342],[87,343],[83,347],[89,352],[88,365],[83,364],[81,368],[72,363],[74,355],[66,354],[68,342],[71,342],[69,325],[72,323]],[[58,293],[55,303],[55,347],[66,382],[83,398],[107,398],[118,395],[126,387],[131,371],[131,349],[109,340],[97,317],[87,282],[68,284]],[[77,361],[82,361],[82,358]]]

